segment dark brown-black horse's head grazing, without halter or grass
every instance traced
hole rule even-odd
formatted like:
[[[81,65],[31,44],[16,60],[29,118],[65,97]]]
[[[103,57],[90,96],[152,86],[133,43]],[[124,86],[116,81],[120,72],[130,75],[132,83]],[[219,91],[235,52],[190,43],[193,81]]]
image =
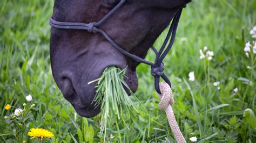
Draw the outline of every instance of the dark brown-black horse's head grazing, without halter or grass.
[[[117,0],[56,0],[52,18],[60,22],[90,23],[103,18]],[[159,34],[169,25],[174,13],[190,0],[128,0],[100,26],[127,52],[145,58]],[[117,51],[99,33],[52,28],[50,56],[53,77],[64,97],[79,115],[93,117],[96,83],[106,67],[128,65],[127,84],[137,90],[138,62]]]

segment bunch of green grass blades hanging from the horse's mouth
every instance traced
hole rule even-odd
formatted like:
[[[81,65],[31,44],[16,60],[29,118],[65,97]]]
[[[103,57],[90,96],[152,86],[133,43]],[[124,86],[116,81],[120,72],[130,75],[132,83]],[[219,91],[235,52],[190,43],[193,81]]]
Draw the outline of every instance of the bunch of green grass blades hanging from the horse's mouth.
[[[133,112],[138,113],[138,109],[134,106],[131,98],[127,95],[123,85],[130,90],[124,81],[125,69],[121,70],[117,67],[107,67],[102,76],[95,80],[98,81],[96,96],[93,101],[96,102],[96,107],[101,104],[100,112],[100,135],[104,133],[106,138],[107,127],[112,127],[116,124],[119,130],[118,122],[125,124],[124,118],[130,118]],[[93,82],[93,81],[92,81]],[[133,95],[132,91],[130,90]],[[137,101],[136,96],[133,96]]]

